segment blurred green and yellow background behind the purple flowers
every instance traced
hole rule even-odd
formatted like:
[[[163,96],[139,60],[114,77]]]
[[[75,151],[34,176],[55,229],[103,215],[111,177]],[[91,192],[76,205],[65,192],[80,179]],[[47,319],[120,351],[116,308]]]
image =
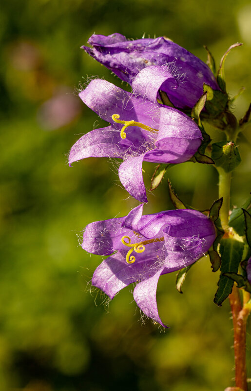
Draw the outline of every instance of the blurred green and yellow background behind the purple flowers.
[[[115,162],[67,165],[77,138],[98,127],[74,94],[78,83],[98,75],[121,86],[79,49],[94,32],[165,35],[204,61],[205,44],[217,65],[242,41],[226,61],[231,96],[247,87],[235,103],[238,118],[251,100],[249,0],[1,2],[0,390],[222,391],[233,385],[232,321],[228,302],[212,303],[218,274],[207,258],[191,270],[183,295],[175,274],[161,277],[166,332],[142,324],[132,289],[111,303],[90,290],[101,257],[81,249],[82,229],[137,205],[119,186]],[[250,128],[238,144],[232,205],[240,206],[250,192]],[[154,165],[144,169],[149,187]],[[184,163],[168,176],[192,206],[206,209],[217,198],[213,167]],[[166,179],[148,197],[144,213],[173,208]],[[247,360],[251,377],[250,348]]]

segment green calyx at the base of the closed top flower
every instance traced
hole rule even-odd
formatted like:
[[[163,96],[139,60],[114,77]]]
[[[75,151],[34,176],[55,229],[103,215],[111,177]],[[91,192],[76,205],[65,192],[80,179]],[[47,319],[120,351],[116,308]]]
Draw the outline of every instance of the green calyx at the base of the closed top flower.
[[[207,91],[205,108],[212,117],[217,117],[225,111],[228,105],[228,96],[222,91],[213,90],[208,84],[203,84],[203,91]]]

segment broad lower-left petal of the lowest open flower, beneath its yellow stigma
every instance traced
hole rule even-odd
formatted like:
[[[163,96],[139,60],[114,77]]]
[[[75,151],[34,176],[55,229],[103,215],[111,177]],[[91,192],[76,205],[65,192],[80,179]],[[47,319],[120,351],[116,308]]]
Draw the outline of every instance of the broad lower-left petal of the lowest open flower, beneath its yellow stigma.
[[[135,281],[148,278],[159,267],[158,254],[162,253],[163,242],[148,245],[141,254],[135,254],[135,263],[125,260],[127,251],[120,251],[106,258],[96,269],[92,285],[101,289],[113,299],[115,294]]]

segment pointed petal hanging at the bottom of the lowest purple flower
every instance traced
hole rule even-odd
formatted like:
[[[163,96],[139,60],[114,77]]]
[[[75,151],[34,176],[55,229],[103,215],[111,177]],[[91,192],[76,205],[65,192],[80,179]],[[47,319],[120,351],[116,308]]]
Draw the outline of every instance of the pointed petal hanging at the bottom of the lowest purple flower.
[[[164,268],[161,268],[152,277],[140,282],[136,285],[134,290],[134,299],[140,310],[153,319],[154,322],[159,323],[163,327],[164,325],[159,317],[157,302],[156,302],[156,290],[158,279],[162,274]]]

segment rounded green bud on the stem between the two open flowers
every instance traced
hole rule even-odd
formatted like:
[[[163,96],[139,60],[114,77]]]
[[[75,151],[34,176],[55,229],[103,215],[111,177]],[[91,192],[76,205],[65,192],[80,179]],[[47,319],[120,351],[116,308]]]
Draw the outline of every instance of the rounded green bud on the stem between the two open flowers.
[[[241,162],[237,146],[233,141],[220,141],[212,144],[212,159],[216,167],[222,167],[230,173]]]

